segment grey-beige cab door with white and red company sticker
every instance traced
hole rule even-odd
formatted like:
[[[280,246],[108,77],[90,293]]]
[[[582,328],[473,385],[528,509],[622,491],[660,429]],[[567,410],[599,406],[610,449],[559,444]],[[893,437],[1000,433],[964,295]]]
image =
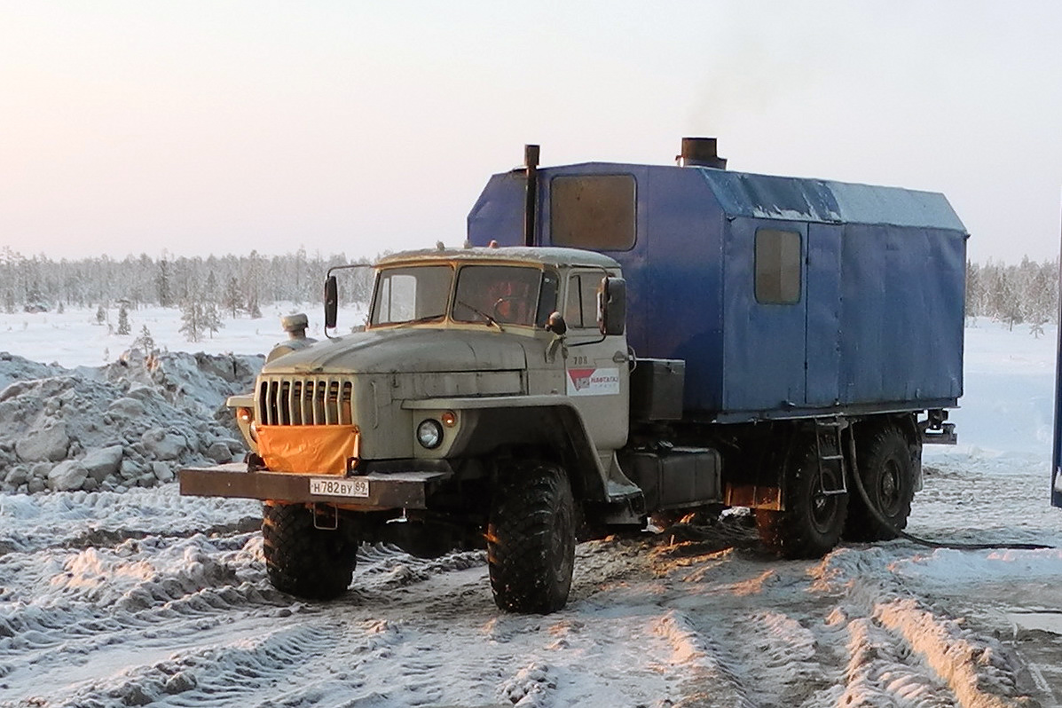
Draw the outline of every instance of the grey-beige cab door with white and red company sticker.
[[[627,444],[627,338],[602,336],[598,329],[597,291],[605,275],[600,269],[572,270],[564,290],[565,393],[583,417],[586,432],[601,452]]]

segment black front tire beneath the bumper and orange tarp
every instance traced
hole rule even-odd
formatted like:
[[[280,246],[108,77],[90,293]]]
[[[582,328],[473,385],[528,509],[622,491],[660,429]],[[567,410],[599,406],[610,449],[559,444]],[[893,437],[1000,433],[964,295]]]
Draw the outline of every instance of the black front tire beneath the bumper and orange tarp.
[[[331,600],[350,587],[357,563],[352,522],[338,518],[336,530],[313,525],[303,504],[266,504],[262,550],[270,583],[277,590],[308,600]]]

